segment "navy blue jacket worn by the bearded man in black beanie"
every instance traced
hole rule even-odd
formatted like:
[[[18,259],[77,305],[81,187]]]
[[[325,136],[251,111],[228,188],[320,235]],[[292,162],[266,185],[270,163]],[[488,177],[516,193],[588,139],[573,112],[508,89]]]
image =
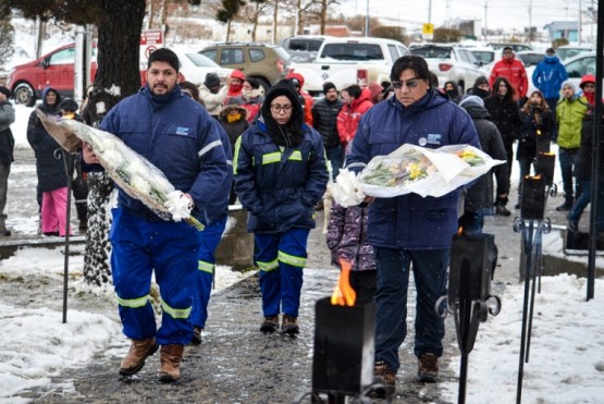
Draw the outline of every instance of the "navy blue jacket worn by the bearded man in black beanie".
[[[120,137],[160,169],[176,189],[188,193],[195,201],[194,215],[207,223],[206,210],[220,198],[229,169],[220,128],[201,105],[180,86],[160,97],[145,86],[113,107],[99,128]],[[158,218],[121,189],[118,203],[147,219]]]

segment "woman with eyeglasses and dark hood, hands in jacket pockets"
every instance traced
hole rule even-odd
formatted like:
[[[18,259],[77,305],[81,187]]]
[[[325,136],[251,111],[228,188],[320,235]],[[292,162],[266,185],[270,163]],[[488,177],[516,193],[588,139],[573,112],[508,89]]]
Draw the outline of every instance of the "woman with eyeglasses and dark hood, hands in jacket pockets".
[[[304,123],[291,81],[271,87],[261,117],[237,139],[235,192],[248,211],[260,269],[260,331],[299,333],[297,321],[315,206],[328,184],[321,135]],[[280,315],[282,320],[280,321]]]

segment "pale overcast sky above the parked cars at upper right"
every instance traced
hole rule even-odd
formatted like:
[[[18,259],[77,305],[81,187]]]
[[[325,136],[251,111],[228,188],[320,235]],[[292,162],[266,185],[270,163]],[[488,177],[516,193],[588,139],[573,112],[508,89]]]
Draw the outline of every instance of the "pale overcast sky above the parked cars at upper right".
[[[484,21],[486,4],[488,28],[519,30],[529,25],[542,29],[552,21],[578,21],[579,4],[582,10],[597,5],[595,0],[342,0],[342,12],[345,15],[365,14],[368,1],[371,16],[390,16],[404,24],[427,23],[431,3],[431,20],[435,26],[455,17]]]

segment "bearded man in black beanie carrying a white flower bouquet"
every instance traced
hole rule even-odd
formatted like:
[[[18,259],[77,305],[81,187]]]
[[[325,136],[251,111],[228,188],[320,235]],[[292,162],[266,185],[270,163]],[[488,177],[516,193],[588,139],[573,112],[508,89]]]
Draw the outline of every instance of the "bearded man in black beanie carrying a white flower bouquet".
[[[217,121],[181,91],[178,66],[173,51],[161,48],[152,52],[147,85],[113,107],[99,128],[113,133],[160,169],[183,192],[192,215],[206,222],[206,208],[221,197],[227,162]],[[99,162],[87,145],[83,157],[87,164]],[[128,162],[124,164],[127,170]],[[111,270],[123,332],[132,339],[120,375],[138,372],[161,345],[159,379],[173,382],[181,376],[184,345],[193,336],[193,276],[201,233],[184,221],[164,221],[140,200],[119,191],[109,234]],[[161,291],[159,329],[149,302],[153,270]]]

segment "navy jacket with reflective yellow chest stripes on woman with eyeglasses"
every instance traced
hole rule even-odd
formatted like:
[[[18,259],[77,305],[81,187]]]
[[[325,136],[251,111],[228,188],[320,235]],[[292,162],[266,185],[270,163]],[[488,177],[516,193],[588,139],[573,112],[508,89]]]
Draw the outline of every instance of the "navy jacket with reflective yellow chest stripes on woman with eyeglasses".
[[[317,131],[304,124],[303,132],[299,146],[282,151],[260,118],[237,139],[235,192],[249,211],[249,232],[315,228],[315,206],[328,184],[325,151]]]

